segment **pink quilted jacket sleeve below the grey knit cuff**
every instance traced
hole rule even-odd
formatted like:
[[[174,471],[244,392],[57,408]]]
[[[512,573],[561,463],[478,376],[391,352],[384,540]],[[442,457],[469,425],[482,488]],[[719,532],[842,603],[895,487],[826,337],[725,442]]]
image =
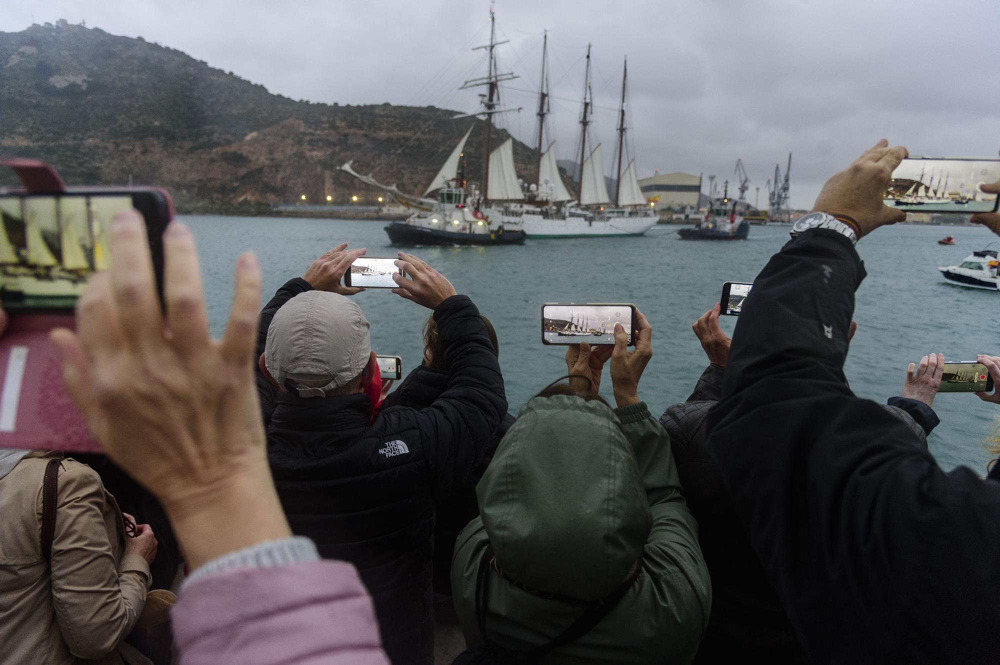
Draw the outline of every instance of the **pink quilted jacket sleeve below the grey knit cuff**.
[[[371,598],[343,561],[240,568],[184,587],[183,665],[388,665]]]

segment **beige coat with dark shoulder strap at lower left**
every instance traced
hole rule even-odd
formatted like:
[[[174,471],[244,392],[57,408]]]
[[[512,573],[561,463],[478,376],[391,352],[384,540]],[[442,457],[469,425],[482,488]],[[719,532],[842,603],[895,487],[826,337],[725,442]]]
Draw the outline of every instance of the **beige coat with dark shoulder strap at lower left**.
[[[86,464],[60,465],[51,565],[42,558],[50,458],[29,453],[0,478],[0,665],[149,663],[121,643],[145,603],[149,565],[125,554],[118,503]]]

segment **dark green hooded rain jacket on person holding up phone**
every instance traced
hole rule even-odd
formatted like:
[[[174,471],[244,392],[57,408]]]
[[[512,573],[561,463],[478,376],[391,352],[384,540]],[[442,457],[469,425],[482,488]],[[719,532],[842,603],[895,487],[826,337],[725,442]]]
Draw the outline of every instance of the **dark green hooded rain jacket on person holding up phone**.
[[[608,615],[539,662],[691,661],[708,623],[711,584],[670,438],[645,403],[612,411],[576,396],[535,397],[476,493],[481,516],[459,534],[451,572],[468,648],[482,643],[476,578],[492,545],[503,571],[488,573],[493,643],[525,651],[556,638],[585,604],[552,594],[602,598],[638,562],[638,576]]]

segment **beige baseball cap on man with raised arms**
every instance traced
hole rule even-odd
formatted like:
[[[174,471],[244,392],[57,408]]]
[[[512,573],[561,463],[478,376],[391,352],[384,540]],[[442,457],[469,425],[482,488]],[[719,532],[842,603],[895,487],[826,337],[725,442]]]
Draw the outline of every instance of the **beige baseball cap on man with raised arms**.
[[[287,387],[290,381],[299,396],[321,397],[365,368],[371,355],[368,331],[368,320],[351,299],[307,291],[271,320],[264,364],[278,385]]]

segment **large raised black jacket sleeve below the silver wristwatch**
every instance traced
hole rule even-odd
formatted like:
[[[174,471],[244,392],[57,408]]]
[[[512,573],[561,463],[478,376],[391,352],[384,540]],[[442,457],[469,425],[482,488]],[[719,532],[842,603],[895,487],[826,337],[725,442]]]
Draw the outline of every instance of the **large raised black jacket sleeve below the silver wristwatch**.
[[[844,380],[854,248],[802,234],[754,281],[708,416],[723,481],[817,663],[996,660],[1000,484],[943,472]]]

